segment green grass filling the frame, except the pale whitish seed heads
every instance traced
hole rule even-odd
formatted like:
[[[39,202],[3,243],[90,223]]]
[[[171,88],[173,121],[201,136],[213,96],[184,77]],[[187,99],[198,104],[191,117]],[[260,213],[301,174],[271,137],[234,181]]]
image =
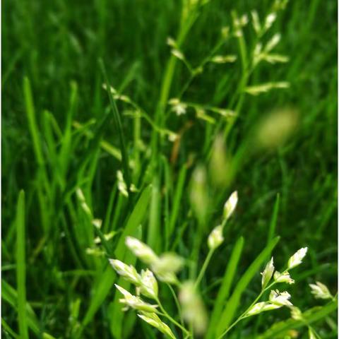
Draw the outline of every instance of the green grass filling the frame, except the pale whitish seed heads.
[[[132,235],[186,258],[178,277],[196,278],[235,190],[237,210],[199,285],[210,328],[224,331],[253,302],[274,246],[277,267],[308,246],[292,302],[321,338],[336,338],[335,304],[316,301],[308,283],[336,293],[337,4],[290,1],[260,38],[279,32],[274,53],[289,61],[251,69],[251,23],[241,37],[220,31],[254,9],[263,19],[272,1],[206,2],[185,11],[181,1],[4,1],[4,338],[158,338],[121,312],[113,284],[131,286],[107,258],[143,268],[124,244]],[[215,55],[237,59],[210,62]],[[281,82],[290,87],[245,92]],[[167,104],[174,97],[186,114]],[[278,128],[290,123],[280,143]],[[171,289],[160,285],[161,302],[179,321]],[[307,326],[288,318],[277,310],[244,319],[227,338],[307,338]]]

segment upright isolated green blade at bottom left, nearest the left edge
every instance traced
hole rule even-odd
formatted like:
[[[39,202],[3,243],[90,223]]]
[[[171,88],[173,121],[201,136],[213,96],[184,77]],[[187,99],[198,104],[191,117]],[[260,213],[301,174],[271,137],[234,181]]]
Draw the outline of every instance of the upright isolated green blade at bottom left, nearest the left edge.
[[[25,193],[20,191],[16,208],[16,283],[20,338],[28,339],[26,318]]]

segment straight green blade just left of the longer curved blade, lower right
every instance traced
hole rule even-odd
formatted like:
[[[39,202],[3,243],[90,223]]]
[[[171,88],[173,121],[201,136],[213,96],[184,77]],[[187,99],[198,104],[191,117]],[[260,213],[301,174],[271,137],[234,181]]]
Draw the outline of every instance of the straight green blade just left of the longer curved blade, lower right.
[[[220,315],[222,313],[222,307],[224,306],[228,296],[230,295],[230,290],[232,287],[232,282],[234,280],[234,275],[237,272],[237,267],[239,263],[239,259],[242,256],[242,249],[244,247],[244,238],[240,237],[237,240],[237,243],[233,247],[233,251],[230,257],[230,261],[225,270],[224,278],[222,279],[222,283],[218,292],[218,297],[215,300],[215,305],[213,308],[212,315],[210,316],[210,324],[208,327],[208,333],[206,338],[214,338],[213,334],[215,331],[215,326],[220,319]]]

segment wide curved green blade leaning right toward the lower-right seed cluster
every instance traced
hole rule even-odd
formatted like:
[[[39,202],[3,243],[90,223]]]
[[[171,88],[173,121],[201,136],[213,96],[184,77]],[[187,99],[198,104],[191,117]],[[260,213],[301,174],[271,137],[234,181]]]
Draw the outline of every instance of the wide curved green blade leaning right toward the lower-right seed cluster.
[[[237,311],[237,308],[242,297],[242,293],[246,290],[247,285],[251,282],[254,275],[258,273],[258,270],[261,269],[263,262],[266,260],[267,256],[274,249],[275,245],[278,244],[279,237],[275,237],[270,244],[268,244],[263,251],[256,257],[256,259],[251,263],[251,266],[247,268],[242,278],[240,278],[237,286],[234,289],[230,299],[228,300],[225,309],[222,311],[217,329],[216,329],[216,338],[218,338],[225,329],[230,326],[234,314]]]

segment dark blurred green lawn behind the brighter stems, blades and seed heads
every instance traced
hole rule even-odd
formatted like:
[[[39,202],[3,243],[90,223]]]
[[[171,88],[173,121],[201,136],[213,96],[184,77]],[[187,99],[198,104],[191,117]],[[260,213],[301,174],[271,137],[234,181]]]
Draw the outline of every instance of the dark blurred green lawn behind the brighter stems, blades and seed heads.
[[[231,24],[232,9],[238,13],[256,9],[263,16],[270,5],[268,0],[211,0],[201,9],[189,38],[182,46],[186,58],[196,65],[210,53],[220,29]],[[46,331],[55,338],[73,338],[72,331],[76,331],[74,328],[79,326],[88,309],[91,288],[99,270],[98,266],[93,268],[89,263],[81,265],[83,259],[79,263],[72,254],[69,241],[73,242],[76,232],[71,239],[66,239],[69,234],[65,234],[65,227],[67,229],[77,222],[81,225],[83,217],[78,217],[80,212],[76,206],[69,207],[66,201],[74,197],[70,198],[67,194],[76,184],[85,186],[83,190],[93,214],[104,222],[111,198],[111,219],[114,219],[115,225],[122,225],[129,214],[129,207],[126,201],[121,203],[121,210],[114,218],[118,198],[112,190],[116,189],[116,172],[121,169],[120,162],[103,149],[86,153],[90,146],[83,137],[85,134],[78,136],[73,127],[72,136],[79,139],[69,144],[67,167],[61,170],[55,165],[56,155],[51,153],[47,140],[49,125],[45,110],[55,119],[54,122],[51,120],[49,128],[52,126],[54,129],[52,134],[57,151],[62,147],[65,138],[62,133],[68,128],[72,114],[71,119],[81,124],[89,119],[100,121],[108,106],[98,66],[101,57],[112,85],[138,102],[153,119],[170,56],[166,40],[177,35],[181,6],[181,1],[172,0],[5,0],[2,3],[2,278],[15,292],[18,258],[14,221],[18,194],[23,189],[26,201],[26,295],[35,311],[40,331]],[[242,163],[230,185],[230,190],[239,191],[237,215],[225,234],[227,244],[215,255],[208,277],[215,281],[223,274],[227,261],[225,256],[240,235],[246,239],[240,272],[251,263],[266,243],[273,206],[277,194],[280,194],[275,231],[282,237],[275,249],[278,263],[283,265],[294,251],[309,246],[304,268],[309,274],[292,288],[298,306],[303,308],[316,304],[309,292],[305,292],[308,288],[306,283],[321,280],[333,293],[337,287],[337,1],[291,0],[285,11],[279,14],[272,30],[280,32],[282,37],[277,51],[286,54],[290,61],[258,67],[253,83],[288,81],[290,88],[246,96],[227,145],[232,145],[233,149],[242,145],[253,126],[277,107],[293,107],[298,112],[299,124],[287,143],[274,150],[256,153]],[[246,40],[252,44],[253,33],[246,33]],[[236,42],[227,43],[222,48],[227,54],[237,54]],[[191,83],[184,100],[227,108],[240,71],[238,62],[209,64],[204,73]],[[37,138],[43,158],[40,165],[32,141],[27,97],[25,102],[23,92],[25,76],[30,81],[35,105]],[[178,63],[169,97],[178,95],[188,77],[186,68]],[[70,109],[71,83],[76,83],[77,98]],[[118,107],[121,112],[126,108],[120,103]],[[190,119],[189,116],[182,119],[173,117],[167,121],[167,128],[177,132]],[[132,121],[131,117],[122,117],[124,139],[131,155],[134,154],[136,133]],[[206,125],[201,121],[195,122],[188,137],[182,141],[178,163],[172,167],[174,178],[191,154],[206,162],[201,152],[203,140],[210,136],[210,127]],[[89,124],[81,133],[95,133],[95,126]],[[59,135],[58,129],[62,132]],[[147,177],[147,150],[152,134],[150,125],[143,122],[140,133],[145,150],[139,154],[141,169],[134,177],[139,178],[134,179],[137,186],[141,186],[141,177]],[[106,126],[101,137],[119,148],[118,133],[112,124]],[[162,154],[169,157],[171,145],[166,144]],[[80,175],[83,159],[89,159],[89,165]],[[45,174],[40,173],[41,167],[44,167]],[[64,176],[60,182],[54,178],[58,171]],[[53,198],[44,192],[44,175],[54,178],[49,180]],[[187,186],[189,177],[190,174],[187,174]],[[165,180],[161,180],[160,187],[163,188],[166,184]],[[182,223],[188,220],[186,195],[185,192],[175,232],[179,232]],[[42,207],[44,203],[45,208]],[[219,215],[220,203],[218,206],[213,213]],[[161,224],[164,213],[162,205]],[[190,237],[189,232],[185,237]],[[189,254],[184,244],[176,250],[183,255]],[[74,251],[81,252],[80,257],[86,256],[81,244],[77,244]],[[300,275],[302,277],[302,273]],[[112,289],[100,311],[86,325],[83,338],[95,338],[96,335],[112,338],[109,328],[114,320],[109,303],[113,295]],[[245,298],[251,299],[252,295],[253,292],[248,290]],[[77,319],[72,323],[70,317],[77,314],[74,311],[76,300],[81,300],[81,306]],[[213,299],[209,302],[213,304]],[[17,331],[16,306],[11,306],[8,299],[3,302],[3,318],[13,331]],[[153,338],[148,335],[131,338]],[[9,335],[8,338],[12,337]],[[32,334],[32,338],[39,338],[39,335]]]

